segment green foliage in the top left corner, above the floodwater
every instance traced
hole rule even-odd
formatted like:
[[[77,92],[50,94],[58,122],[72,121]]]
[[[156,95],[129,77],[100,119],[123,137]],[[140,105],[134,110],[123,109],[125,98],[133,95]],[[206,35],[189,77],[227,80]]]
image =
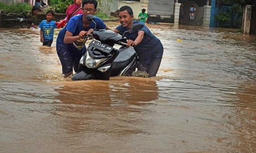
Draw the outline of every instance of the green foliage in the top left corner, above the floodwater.
[[[0,10],[9,11],[11,13],[20,13],[22,11],[31,11],[32,6],[27,3],[12,3],[10,5],[0,3]]]

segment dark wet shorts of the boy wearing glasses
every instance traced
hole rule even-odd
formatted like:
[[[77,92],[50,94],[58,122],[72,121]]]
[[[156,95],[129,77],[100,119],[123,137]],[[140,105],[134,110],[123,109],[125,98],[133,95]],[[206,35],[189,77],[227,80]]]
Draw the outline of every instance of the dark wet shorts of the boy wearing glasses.
[[[70,47],[63,44],[56,44],[56,50],[61,62],[62,73],[70,73],[70,71],[73,71],[73,68],[74,71],[77,72],[79,61],[83,54],[81,52],[72,51]]]

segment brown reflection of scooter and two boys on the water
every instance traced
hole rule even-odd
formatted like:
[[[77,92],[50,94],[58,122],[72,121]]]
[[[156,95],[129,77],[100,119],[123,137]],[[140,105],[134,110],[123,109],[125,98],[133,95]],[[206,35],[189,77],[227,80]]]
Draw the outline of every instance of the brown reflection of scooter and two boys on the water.
[[[84,105],[99,105],[99,103],[109,106],[120,103],[138,105],[155,101],[158,96],[155,80],[136,77],[114,77],[108,82],[100,80],[66,82],[56,91],[60,94],[58,99],[61,102]]]

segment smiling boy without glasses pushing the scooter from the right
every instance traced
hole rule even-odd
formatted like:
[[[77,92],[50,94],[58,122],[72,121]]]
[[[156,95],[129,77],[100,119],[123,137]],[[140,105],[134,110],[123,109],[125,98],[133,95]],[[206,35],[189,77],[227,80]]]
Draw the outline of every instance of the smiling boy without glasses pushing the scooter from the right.
[[[127,45],[133,46],[138,54],[138,71],[145,71],[148,73],[148,77],[154,77],[163,57],[163,45],[143,22],[133,21],[133,17],[132,9],[129,6],[122,6],[119,10],[119,22],[121,25],[118,25],[113,31],[124,34],[125,31],[131,29],[133,24],[144,25],[142,29],[125,33],[124,36],[128,40]]]

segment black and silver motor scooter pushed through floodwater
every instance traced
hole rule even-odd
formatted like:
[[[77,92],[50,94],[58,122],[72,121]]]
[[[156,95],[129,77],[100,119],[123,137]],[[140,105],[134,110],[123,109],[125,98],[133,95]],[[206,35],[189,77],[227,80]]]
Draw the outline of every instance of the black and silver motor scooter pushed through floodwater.
[[[93,21],[93,15],[87,15]],[[95,23],[95,22],[94,22]],[[96,23],[95,23],[96,27]],[[138,31],[142,24],[134,24],[129,31]],[[125,31],[125,33],[129,32]],[[127,47],[127,39],[106,29],[94,29],[84,40],[92,40],[79,61],[78,72],[72,80],[109,80],[109,77],[131,76],[138,65],[138,56],[132,47]],[[114,45],[121,45],[114,48]]]

